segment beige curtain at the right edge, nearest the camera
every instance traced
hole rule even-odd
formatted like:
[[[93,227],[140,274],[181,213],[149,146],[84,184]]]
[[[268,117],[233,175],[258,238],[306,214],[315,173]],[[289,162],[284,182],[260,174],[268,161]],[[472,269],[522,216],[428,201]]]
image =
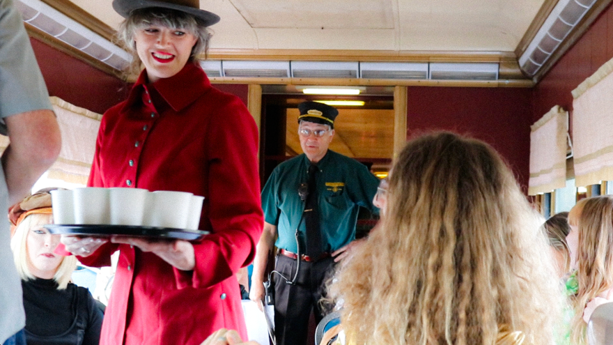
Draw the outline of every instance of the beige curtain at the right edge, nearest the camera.
[[[573,90],[575,185],[613,180],[613,60]]]

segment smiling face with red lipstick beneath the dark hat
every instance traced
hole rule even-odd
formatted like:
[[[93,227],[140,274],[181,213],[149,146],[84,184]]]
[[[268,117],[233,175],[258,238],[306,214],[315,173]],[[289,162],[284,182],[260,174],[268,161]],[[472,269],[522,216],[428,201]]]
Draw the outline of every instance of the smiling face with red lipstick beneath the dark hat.
[[[192,33],[163,25],[144,26],[134,33],[137,53],[152,83],[180,72],[197,41]]]

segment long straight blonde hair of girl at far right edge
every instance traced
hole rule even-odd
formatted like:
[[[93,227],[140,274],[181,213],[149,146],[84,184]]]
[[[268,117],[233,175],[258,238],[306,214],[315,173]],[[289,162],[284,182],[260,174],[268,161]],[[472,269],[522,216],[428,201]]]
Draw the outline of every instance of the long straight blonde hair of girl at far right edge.
[[[574,344],[587,344],[583,310],[587,302],[613,287],[613,197],[582,199],[577,232],[577,282]]]

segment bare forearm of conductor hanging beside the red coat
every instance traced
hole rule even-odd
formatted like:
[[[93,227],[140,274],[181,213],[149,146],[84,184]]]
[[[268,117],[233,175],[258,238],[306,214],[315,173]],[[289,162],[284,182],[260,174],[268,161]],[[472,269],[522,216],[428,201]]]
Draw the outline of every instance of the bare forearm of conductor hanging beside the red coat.
[[[268,256],[274,247],[274,240],[277,239],[277,226],[264,222],[264,231],[256,247],[256,258],[254,259],[254,271],[251,273],[251,290],[249,299],[254,302],[264,300],[264,279]]]

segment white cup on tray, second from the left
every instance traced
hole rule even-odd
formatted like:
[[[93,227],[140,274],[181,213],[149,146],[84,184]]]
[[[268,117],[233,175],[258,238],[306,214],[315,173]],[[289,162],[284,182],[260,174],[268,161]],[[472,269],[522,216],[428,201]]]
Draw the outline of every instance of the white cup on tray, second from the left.
[[[87,187],[72,190],[75,224],[109,224],[109,190]]]

